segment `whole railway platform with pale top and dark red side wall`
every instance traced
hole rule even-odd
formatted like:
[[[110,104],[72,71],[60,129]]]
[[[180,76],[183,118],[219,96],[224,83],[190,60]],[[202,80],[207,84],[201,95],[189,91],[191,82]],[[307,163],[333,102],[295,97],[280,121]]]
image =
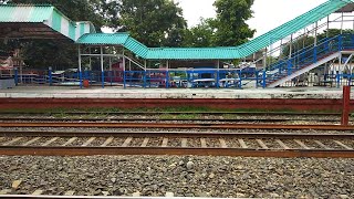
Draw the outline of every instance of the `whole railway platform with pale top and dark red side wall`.
[[[352,93],[354,98],[354,93]],[[0,108],[163,108],[323,111],[343,108],[342,88],[292,87],[254,90],[144,90],[122,87],[17,86],[0,90]],[[354,111],[354,101],[350,101]]]

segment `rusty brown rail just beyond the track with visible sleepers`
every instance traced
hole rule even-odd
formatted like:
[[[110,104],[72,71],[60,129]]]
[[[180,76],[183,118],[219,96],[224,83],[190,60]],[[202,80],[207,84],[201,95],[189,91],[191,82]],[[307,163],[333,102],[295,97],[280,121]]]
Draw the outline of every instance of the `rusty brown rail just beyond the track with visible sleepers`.
[[[0,127],[96,127],[96,128],[208,128],[208,129],[314,129],[354,130],[341,125],[283,125],[283,124],[165,124],[165,123],[0,123]]]

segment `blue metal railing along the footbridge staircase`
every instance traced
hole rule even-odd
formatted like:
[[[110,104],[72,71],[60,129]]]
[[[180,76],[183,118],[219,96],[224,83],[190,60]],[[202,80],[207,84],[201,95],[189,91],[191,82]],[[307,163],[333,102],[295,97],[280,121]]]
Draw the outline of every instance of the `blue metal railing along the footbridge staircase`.
[[[317,61],[343,50],[354,49],[354,34],[340,34],[333,38],[325,38],[316,45],[304,48],[294,52],[290,59],[280,60],[266,70],[259,72],[258,86],[267,87],[294,72],[309,66]]]

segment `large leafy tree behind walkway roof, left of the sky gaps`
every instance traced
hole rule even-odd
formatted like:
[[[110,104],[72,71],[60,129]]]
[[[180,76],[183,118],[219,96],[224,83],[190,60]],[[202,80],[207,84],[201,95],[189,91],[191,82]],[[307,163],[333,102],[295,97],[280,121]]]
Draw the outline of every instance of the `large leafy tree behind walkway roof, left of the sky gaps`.
[[[147,46],[180,46],[187,23],[173,0],[119,0],[105,7],[110,27]]]

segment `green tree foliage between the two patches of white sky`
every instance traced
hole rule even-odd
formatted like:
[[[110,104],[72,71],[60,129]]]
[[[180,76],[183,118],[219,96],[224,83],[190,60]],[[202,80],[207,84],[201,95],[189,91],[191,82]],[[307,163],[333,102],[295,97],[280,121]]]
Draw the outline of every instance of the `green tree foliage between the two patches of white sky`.
[[[185,46],[236,46],[253,36],[246,23],[252,17],[253,0],[217,0],[216,19],[201,19],[186,32]]]

